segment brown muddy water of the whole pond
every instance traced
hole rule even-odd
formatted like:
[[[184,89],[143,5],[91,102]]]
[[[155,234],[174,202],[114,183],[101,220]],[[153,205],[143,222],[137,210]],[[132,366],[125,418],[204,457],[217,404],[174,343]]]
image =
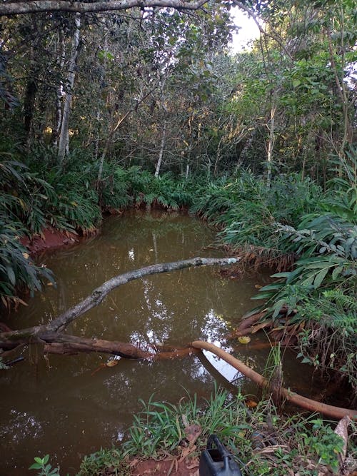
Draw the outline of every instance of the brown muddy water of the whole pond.
[[[215,235],[201,221],[168,213],[127,213],[104,221],[99,236],[39,258],[56,276],[57,288],[46,286],[29,306],[6,318],[11,328],[47,323],[86,297],[105,280],[154,263],[218,257],[209,247]],[[146,348],[150,344],[183,346],[204,339],[227,349],[223,337],[254,304],[256,285],[268,275],[243,280],[221,278],[217,269],[190,268],[153,275],[118,288],[98,308],[82,315],[69,332],[119,340]],[[4,320],[4,318],[2,318]],[[264,336],[252,338],[252,344]],[[219,344],[221,343],[221,344]],[[229,350],[261,371],[268,349],[229,342]],[[235,346],[235,347],[232,347]],[[213,355],[208,361],[189,357],[157,362],[121,359],[111,368],[96,368],[108,355],[41,355],[35,346],[23,350],[25,360],[0,371],[0,475],[34,474],[34,456],[51,455],[61,474],[75,475],[84,455],[118,445],[139,399],[177,403],[186,395],[209,397],[215,379],[229,385],[240,375]],[[221,373],[218,375],[214,368]],[[214,376],[213,376],[214,375]],[[310,388],[311,375],[284,358],[286,385]],[[240,378],[246,393],[256,388]],[[305,392],[308,394],[308,391]]]

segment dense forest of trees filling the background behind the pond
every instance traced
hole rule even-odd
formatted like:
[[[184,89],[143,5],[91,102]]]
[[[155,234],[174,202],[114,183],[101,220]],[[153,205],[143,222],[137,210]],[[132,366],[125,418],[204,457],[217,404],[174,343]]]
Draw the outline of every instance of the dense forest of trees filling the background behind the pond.
[[[92,12],[68,13],[67,3]],[[57,148],[61,163],[70,148],[85,149],[100,163],[113,158],[156,173],[261,171],[266,162],[326,181],[331,152],[353,142],[353,1],[212,2],[192,11],[24,4],[50,10],[2,22],[1,126],[27,151]],[[256,46],[235,57],[233,6],[261,28]]]

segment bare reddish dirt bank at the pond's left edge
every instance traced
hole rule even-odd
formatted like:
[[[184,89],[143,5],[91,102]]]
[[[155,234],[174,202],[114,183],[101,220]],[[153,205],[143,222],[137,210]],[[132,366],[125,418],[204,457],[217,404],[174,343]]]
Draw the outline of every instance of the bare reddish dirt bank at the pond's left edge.
[[[21,244],[28,248],[31,255],[41,253],[41,251],[53,248],[61,248],[62,246],[72,245],[81,239],[75,233],[54,230],[54,228],[46,228],[42,232],[42,236],[34,236],[34,238],[21,238]]]

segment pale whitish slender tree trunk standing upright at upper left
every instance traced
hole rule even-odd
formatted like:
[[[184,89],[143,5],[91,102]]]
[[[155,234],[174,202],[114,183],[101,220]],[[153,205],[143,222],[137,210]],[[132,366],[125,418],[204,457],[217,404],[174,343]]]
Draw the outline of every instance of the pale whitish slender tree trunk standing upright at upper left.
[[[79,51],[79,29],[81,26],[81,17],[76,14],[73,44],[71,49],[71,57],[69,59],[69,75],[67,79],[68,91],[64,99],[64,111],[62,113],[61,132],[59,134],[59,162],[63,163],[66,153],[69,152],[69,114],[71,112],[71,101],[73,95],[74,77],[76,75],[76,64]]]

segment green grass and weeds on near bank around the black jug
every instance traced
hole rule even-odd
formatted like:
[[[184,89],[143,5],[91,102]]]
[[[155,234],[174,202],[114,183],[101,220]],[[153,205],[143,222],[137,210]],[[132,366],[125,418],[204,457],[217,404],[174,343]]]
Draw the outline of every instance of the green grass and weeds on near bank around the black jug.
[[[201,428],[190,457],[198,457],[208,435],[216,433],[236,457],[243,475],[343,474],[338,459],[343,440],[331,424],[316,416],[278,415],[271,400],[250,410],[240,393],[233,397],[224,390],[215,390],[203,406],[198,405],[196,395],[182,398],[178,405],[154,400],[142,405],[121,447],[86,457],[79,476],[130,475],[132,460],[180,457],[188,425]],[[346,474],[356,463],[355,458],[356,447],[350,443]]]

